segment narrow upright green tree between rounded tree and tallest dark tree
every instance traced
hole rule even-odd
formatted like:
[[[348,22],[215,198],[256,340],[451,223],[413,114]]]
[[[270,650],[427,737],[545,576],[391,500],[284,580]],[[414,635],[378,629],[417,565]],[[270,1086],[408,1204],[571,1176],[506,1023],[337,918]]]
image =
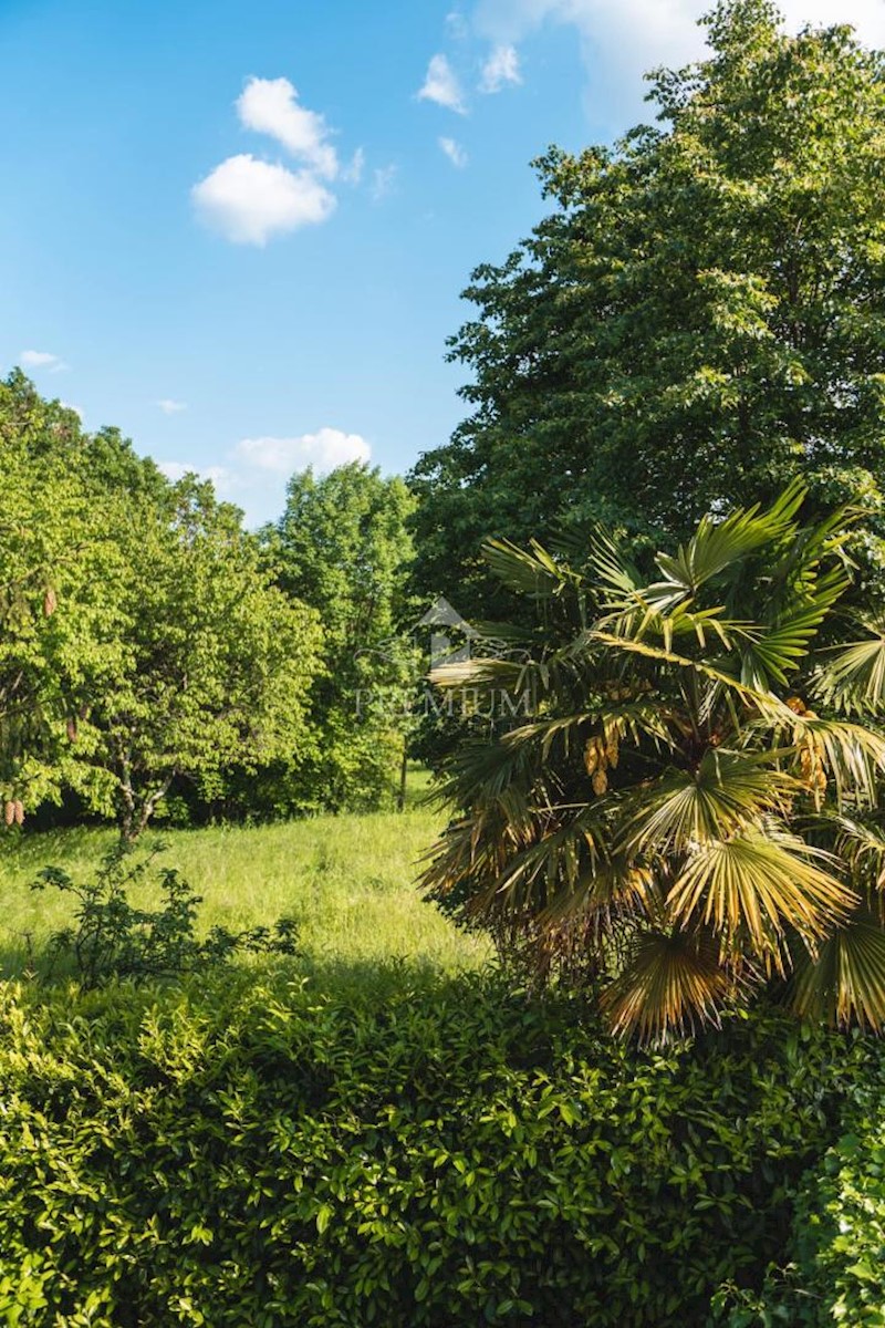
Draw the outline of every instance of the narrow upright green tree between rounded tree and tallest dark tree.
[[[409,721],[398,692],[414,672],[401,635],[413,509],[402,479],[353,462],[321,478],[293,475],[285,511],[265,531],[277,583],[322,622],[310,708],[318,741],[306,780],[329,807],[377,806],[399,772]]]

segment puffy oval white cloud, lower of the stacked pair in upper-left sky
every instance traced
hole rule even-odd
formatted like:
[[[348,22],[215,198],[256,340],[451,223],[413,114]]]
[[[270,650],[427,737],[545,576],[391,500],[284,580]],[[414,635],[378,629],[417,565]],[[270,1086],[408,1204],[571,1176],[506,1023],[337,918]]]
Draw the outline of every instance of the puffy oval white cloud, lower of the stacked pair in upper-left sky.
[[[273,235],[325,222],[336,207],[309,171],[296,174],[248,153],[228,157],[191,197],[206,224],[235,244],[267,244]]]

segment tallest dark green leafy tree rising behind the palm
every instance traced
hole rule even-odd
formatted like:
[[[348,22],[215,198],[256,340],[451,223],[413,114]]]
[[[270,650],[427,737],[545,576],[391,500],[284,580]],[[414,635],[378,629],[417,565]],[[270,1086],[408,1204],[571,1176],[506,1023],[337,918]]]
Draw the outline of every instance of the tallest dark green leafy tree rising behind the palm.
[[[487,535],[594,518],[654,548],[795,474],[821,511],[864,501],[881,572],[885,61],[767,0],[703,23],[709,57],[651,76],[657,124],[552,149],[551,215],[472,274],[472,413],[413,475],[426,590],[494,614]]]

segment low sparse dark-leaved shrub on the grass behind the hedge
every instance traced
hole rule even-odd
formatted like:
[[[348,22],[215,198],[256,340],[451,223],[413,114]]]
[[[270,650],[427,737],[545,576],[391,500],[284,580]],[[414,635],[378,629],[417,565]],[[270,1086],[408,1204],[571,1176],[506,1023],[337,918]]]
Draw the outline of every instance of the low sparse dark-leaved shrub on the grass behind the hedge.
[[[157,845],[133,857],[130,846],[117,845],[105,855],[96,876],[82,884],[61,867],[44,867],[38,872],[33,890],[53,887],[77,900],[74,926],[54,932],[49,940],[50,971],[60,959],[70,959],[81,985],[92,988],[111,977],[178,976],[230,959],[236,951],[296,952],[296,924],[285,918],[272,928],[232,932],[212,927],[204,939],[198,939],[196,914],[203,899],[174,867],[159,870],[162,906],[134,907],[129,890],[145,882],[161,851]]]

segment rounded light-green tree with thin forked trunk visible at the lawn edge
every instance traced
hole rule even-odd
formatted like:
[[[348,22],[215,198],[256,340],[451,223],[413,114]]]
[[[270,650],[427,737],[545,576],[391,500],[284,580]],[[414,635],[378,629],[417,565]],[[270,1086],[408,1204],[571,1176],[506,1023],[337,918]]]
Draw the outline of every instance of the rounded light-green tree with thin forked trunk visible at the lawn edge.
[[[176,780],[211,797],[232,769],[305,757],[321,629],[211,485],[186,477],[115,513],[117,653],[58,668],[78,716],[69,782],[134,839]]]

